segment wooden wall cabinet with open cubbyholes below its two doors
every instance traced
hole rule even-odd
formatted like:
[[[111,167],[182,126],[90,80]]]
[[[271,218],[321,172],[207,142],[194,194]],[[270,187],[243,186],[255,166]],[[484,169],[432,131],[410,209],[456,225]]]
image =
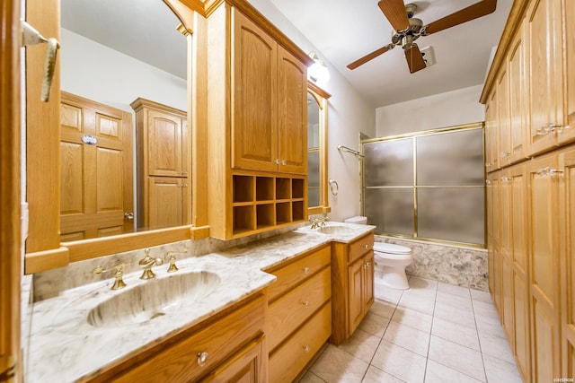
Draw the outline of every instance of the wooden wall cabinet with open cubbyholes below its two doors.
[[[206,29],[210,236],[304,222],[309,57],[244,2],[221,2]]]

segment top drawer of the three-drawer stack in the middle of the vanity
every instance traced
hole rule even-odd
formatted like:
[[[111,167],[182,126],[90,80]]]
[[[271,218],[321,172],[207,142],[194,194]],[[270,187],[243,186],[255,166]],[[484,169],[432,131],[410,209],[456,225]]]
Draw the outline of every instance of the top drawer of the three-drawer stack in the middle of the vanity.
[[[332,249],[330,246],[314,250],[305,257],[297,259],[289,265],[266,270],[270,274],[276,275],[278,279],[268,288],[268,300],[271,302],[280,294],[287,292],[301,281],[314,275],[326,265],[330,264]]]

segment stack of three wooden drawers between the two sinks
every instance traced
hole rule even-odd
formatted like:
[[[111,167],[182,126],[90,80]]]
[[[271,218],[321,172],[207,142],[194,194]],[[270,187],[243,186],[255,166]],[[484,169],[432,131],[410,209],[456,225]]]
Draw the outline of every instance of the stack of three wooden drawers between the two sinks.
[[[266,270],[278,278],[268,288],[270,382],[293,381],[332,333],[330,258],[324,246]]]

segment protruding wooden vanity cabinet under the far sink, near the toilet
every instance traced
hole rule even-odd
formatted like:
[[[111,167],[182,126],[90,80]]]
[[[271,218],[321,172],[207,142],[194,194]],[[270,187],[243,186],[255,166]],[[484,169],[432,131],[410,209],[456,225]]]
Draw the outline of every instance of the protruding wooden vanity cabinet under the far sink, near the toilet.
[[[332,344],[351,336],[374,302],[374,233],[332,242]]]

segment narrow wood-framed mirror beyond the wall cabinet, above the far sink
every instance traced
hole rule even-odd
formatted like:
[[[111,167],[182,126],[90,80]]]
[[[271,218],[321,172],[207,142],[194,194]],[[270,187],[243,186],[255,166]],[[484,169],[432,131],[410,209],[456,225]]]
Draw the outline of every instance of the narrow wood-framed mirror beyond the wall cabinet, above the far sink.
[[[329,213],[327,195],[327,100],[314,83],[307,85],[307,207],[309,214]]]

